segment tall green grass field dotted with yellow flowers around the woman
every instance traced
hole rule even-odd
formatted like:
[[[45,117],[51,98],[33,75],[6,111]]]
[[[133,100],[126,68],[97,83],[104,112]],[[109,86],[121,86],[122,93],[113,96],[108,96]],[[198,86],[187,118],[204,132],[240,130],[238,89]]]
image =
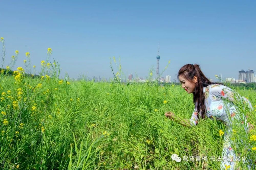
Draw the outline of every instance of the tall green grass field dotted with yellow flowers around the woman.
[[[218,161],[171,159],[174,153],[209,159],[223,148],[222,123],[206,119],[188,128],[164,116],[191,117],[192,95],[180,86],[60,80],[59,63],[48,62],[41,77],[25,76],[21,68],[14,76],[1,74],[1,169],[219,169]],[[256,104],[255,90],[239,93]],[[255,111],[249,116],[255,126]],[[244,141],[241,156],[255,160],[248,148],[256,147],[253,135],[255,130],[236,138]]]

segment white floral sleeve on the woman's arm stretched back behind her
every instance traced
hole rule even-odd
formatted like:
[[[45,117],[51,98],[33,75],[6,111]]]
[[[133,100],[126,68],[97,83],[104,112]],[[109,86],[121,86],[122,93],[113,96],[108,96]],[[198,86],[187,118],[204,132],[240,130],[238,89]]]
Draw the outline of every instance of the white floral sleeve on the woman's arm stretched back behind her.
[[[247,103],[249,105],[249,107],[252,108],[252,105],[247,98],[240,96],[237,92],[235,92],[234,90],[232,90],[231,88],[229,88],[227,86],[212,85],[210,87],[210,93],[215,98],[227,99],[231,102],[235,102],[235,101],[241,102],[242,101],[244,104]]]

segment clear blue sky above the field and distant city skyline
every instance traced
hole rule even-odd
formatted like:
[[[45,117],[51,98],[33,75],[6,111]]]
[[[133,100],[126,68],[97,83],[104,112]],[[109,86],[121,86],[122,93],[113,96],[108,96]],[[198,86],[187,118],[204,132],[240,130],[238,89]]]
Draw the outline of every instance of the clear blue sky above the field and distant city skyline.
[[[207,77],[238,78],[256,71],[256,1],[1,1],[0,36],[7,60],[19,50],[40,67],[47,48],[72,78],[112,77],[110,57],[125,77],[146,77],[160,42],[160,72],[176,79],[180,67],[199,63]],[[15,68],[16,68],[15,67]],[[117,70],[116,70],[117,71]],[[155,75],[155,70],[154,70]]]

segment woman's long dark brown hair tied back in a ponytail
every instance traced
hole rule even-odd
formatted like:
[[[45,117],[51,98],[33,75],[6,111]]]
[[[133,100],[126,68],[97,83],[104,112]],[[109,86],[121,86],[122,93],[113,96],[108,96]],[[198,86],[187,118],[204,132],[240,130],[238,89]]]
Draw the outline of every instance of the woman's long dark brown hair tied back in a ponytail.
[[[178,77],[183,76],[187,79],[190,83],[194,82],[194,76],[197,77],[195,91],[193,92],[193,101],[195,104],[195,108],[197,113],[201,111],[202,118],[205,118],[206,108],[205,108],[205,95],[203,91],[203,87],[206,87],[210,84],[215,84],[211,82],[204,73],[201,71],[200,66],[198,64],[186,64],[182,68],[180,68]],[[199,114],[197,114],[199,119]]]

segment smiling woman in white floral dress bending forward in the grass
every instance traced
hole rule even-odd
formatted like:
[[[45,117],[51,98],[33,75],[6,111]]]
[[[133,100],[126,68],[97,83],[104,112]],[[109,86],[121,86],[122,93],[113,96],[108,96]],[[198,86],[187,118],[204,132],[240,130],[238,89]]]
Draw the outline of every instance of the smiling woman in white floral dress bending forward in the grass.
[[[232,156],[235,154],[231,147],[229,135],[232,133],[232,120],[243,120],[244,129],[248,132],[252,128],[246,122],[246,117],[239,116],[236,111],[236,107],[233,102],[235,99],[242,99],[244,102],[249,104],[252,108],[251,103],[246,99],[240,97],[238,94],[222,84],[216,84],[209,81],[206,76],[202,73],[200,66],[195,64],[186,64],[183,66],[178,73],[178,79],[182,83],[187,93],[193,93],[193,101],[195,104],[194,112],[191,119],[181,120],[172,112],[166,112],[165,116],[170,119],[182,124],[183,126],[194,126],[198,123],[199,119],[209,117],[210,119],[216,119],[222,121],[228,126],[227,132],[224,136],[224,148],[222,150],[222,156]],[[228,101],[227,103],[225,101]],[[240,121],[243,124],[242,121]],[[224,160],[221,162],[221,169],[234,169],[236,162],[234,160]],[[250,168],[250,167],[249,167]]]

